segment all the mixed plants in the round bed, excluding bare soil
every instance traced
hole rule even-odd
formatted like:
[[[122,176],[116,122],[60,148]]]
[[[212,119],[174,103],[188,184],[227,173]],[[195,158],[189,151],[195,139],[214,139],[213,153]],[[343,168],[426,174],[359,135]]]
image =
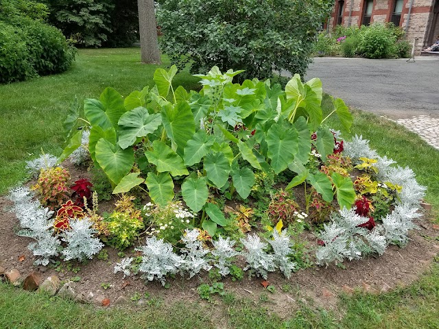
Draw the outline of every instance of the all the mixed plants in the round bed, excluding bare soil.
[[[37,184],[10,199],[36,264],[93,258],[105,243],[132,253],[115,273],[164,285],[177,273],[241,278],[240,267],[289,278],[305,267],[304,230],[319,265],[407,243],[425,189],[361,137],[344,141],[325,125],[336,116],[348,131],[353,118],[341,99],[323,117],[320,80],[233,84],[240,71],[213,67],[188,93],[174,90],[176,72],[158,69],[153,88],[125,98],[106,88],[83,113],[72,106],[57,163],[29,162]],[[59,167],[78,149],[86,156],[71,162],[105,173],[117,195],[110,212],[99,212],[91,182]]]

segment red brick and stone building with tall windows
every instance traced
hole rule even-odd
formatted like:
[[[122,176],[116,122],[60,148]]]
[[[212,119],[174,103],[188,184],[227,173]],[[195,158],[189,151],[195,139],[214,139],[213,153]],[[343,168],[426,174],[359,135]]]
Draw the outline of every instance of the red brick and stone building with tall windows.
[[[328,28],[393,22],[405,30],[407,40],[418,38],[418,49],[439,35],[439,0],[335,0]]]

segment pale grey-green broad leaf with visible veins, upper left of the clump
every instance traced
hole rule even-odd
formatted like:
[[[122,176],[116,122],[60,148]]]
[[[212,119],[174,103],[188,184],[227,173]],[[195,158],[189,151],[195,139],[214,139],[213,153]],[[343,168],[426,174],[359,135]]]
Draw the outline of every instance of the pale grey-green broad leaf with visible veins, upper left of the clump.
[[[119,119],[119,145],[126,149],[137,137],[152,134],[161,125],[160,114],[150,114],[146,108],[134,108]]]

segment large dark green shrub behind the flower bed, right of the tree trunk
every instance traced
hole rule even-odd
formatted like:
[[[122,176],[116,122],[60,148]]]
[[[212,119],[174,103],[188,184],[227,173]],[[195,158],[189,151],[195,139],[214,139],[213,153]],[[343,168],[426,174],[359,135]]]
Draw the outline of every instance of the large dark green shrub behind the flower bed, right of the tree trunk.
[[[157,11],[163,52],[180,68],[245,69],[239,79],[303,75],[329,0],[170,0]]]

